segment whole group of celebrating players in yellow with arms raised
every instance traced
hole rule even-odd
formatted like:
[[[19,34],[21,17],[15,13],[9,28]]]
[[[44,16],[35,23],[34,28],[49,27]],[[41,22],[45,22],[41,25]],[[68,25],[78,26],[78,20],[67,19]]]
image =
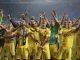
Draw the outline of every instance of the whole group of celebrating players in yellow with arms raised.
[[[4,60],[9,53],[12,60],[80,60],[80,17],[75,20],[63,13],[59,19],[55,10],[40,13],[36,20],[22,13],[21,20],[15,21],[9,14],[8,24],[3,22],[3,10],[0,10],[0,60],[4,51]]]

